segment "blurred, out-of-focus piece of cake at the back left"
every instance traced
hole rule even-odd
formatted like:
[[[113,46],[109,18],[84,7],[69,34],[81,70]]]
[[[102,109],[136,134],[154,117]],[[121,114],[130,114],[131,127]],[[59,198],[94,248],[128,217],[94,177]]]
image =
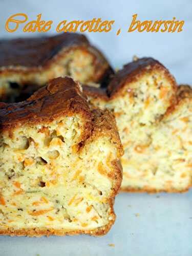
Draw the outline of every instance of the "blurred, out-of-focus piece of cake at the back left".
[[[111,73],[106,58],[81,34],[0,40],[0,101],[19,102],[59,76],[104,85]]]

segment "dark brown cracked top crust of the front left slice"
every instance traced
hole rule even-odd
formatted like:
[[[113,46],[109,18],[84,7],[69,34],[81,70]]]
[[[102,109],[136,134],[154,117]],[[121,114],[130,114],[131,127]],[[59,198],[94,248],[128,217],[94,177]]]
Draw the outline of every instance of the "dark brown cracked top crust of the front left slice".
[[[89,132],[92,114],[79,83],[69,77],[54,78],[47,87],[18,103],[0,103],[0,129],[9,130],[24,123],[49,123],[63,114],[81,113],[88,120]],[[86,136],[86,132],[85,132]]]

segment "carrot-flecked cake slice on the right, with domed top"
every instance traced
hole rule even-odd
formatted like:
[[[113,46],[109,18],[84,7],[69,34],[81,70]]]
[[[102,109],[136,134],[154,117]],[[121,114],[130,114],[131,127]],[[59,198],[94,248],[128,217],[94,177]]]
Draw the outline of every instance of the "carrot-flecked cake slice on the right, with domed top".
[[[191,89],[153,58],[117,72],[108,90],[84,87],[92,108],[112,111],[124,148],[123,191],[185,191],[192,174]]]

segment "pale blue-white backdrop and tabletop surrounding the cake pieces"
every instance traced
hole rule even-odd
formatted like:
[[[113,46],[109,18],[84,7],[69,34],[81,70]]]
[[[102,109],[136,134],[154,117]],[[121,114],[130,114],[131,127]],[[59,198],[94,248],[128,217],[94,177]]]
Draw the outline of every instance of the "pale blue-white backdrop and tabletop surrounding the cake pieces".
[[[53,20],[51,33],[61,20],[115,20],[109,33],[89,33],[113,67],[132,59],[152,56],[174,74],[178,83],[190,83],[192,68],[192,1],[22,1],[0,0],[0,37],[33,36],[20,29],[5,31],[6,19],[14,13],[26,13],[29,20],[42,13],[42,19]],[[180,33],[127,33],[132,15],[140,20],[184,20]],[[121,34],[116,31],[121,28]],[[50,238],[0,237],[1,256],[42,255],[192,255],[192,190],[185,194],[120,194],[116,198],[117,221],[102,238],[89,236]],[[139,214],[137,217],[136,214]],[[115,244],[110,247],[108,244]]]

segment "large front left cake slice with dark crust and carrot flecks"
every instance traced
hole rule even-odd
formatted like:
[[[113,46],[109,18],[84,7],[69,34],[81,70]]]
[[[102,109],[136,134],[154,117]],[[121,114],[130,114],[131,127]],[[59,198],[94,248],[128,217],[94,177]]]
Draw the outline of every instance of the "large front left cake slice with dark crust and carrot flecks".
[[[1,103],[0,129],[0,234],[109,231],[122,145],[108,111],[91,111],[79,84],[60,77]]]

